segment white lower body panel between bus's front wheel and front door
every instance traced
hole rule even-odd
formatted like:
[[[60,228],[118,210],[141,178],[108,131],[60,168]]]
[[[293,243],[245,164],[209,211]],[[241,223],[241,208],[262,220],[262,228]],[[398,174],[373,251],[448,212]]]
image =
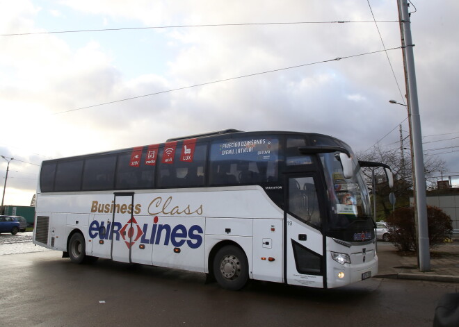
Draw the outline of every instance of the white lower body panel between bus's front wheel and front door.
[[[277,283],[283,281],[282,222],[282,219],[253,219],[254,279]]]

